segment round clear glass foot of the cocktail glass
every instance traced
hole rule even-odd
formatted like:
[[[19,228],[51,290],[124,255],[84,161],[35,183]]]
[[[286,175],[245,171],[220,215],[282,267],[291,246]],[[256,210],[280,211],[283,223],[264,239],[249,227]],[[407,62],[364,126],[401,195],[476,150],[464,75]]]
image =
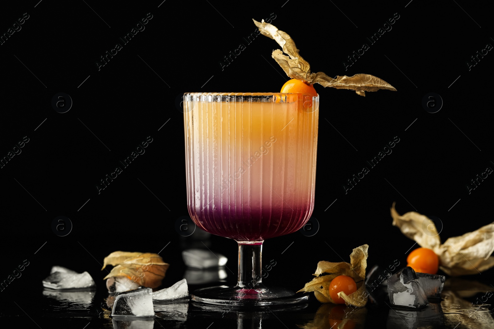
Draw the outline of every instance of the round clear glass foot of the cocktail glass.
[[[241,289],[218,286],[198,289],[192,293],[191,299],[215,305],[265,306],[306,302],[309,295],[296,295],[285,288]]]

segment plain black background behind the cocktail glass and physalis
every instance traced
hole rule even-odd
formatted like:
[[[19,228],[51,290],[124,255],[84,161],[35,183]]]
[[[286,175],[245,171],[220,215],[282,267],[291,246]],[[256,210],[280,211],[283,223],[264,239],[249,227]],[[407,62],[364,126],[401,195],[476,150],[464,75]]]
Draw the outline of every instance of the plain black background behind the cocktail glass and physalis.
[[[348,261],[362,244],[370,246],[370,265],[388,266],[395,259],[406,265],[413,241],[391,225],[394,201],[400,214],[416,210],[439,218],[443,242],[493,221],[494,179],[489,176],[470,194],[465,187],[494,168],[494,55],[490,51],[470,71],[466,64],[494,44],[486,8],[420,0],[160,3],[35,0],[0,11],[2,34],[29,14],[22,29],[0,45],[0,156],[29,138],[0,169],[0,280],[25,259],[30,262],[0,292],[7,310],[22,314],[12,299],[29,308],[25,294],[41,292],[52,265],[88,271],[102,288],[101,263],[117,250],[161,251],[171,264],[164,287],[183,277],[180,252],[190,238],[175,230],[176,220],[187,216],[177,97],[179,103],[184,92],[280,90],[288,77],[271,58],[279,46],[262,35],[250,44],[244,39],[255,30],[252,18],[276,15],[272,24],[295,40],[312,71],[368,73],[398,90],[360,97],[316,85],[321,101],[313,216],[320,228],[310,237],[297,232],[264,243],[264,259],[277,261],[266,284],[298,290],[318,261]],[[147,13],[153,18],[145,30],[123,44],[119,37]],[[395,13],[392,30],[371,44],[367,37]],[[95,63],[116,43],[122,50],[98,70]],[[222,70],[220,61],[240,43],[246,49]],[[343,61],[363,43],[370,49],[345,70]],[[51,106],[59,92],[72,98],[66,113]],[[421,105],[430,92],[444,101],[439,112]],[[145,153],[98,194],[100,180],[148,136],[153,142]],[[395,136],[400,142],[392,153],[345,194],[347,179]],[[52,231],[57,216],[71,220],[67,236]],[[235,275],[228,272],[228,279],[235,279],[235,241],[212,236],[206,244],[230,259]],[[492,273],[475,279],[492,283]]]

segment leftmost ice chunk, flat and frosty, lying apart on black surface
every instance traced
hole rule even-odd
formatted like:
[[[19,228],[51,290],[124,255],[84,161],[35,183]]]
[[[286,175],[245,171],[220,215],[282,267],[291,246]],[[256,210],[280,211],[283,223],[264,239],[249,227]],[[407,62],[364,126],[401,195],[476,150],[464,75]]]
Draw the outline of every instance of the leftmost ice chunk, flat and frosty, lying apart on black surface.
[[[53,272],[53,269],[57,270]],[[53,266],[52,273],[43,280],[43,287],[50,289],[89,289],[95,286],[87,272],[77,273],[68,268]],[[62,272],[60,272],[62,271]]]

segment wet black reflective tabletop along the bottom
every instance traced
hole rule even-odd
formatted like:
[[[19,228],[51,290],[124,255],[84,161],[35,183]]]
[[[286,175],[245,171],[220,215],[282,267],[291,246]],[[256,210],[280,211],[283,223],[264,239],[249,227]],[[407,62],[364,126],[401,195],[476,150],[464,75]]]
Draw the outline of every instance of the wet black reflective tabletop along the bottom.
[[[212,285],[212,283],[211,283]],[[204,286],[204,285],[203,285]],[[199,286],[190,286],[193,289]],[[461,290],[452,291],[448,289]],[[103,287],[99,287],[103,288]],[[492,328],[493,307],[489,286],[476,281],[449,280],[443,300],[419,311],[391,307],[384,293],[366,307],[321,304],[312,295],[309,302],[288,306],[243,308],[200,304],[193,301],[155,304],[154,318],[111,317],[108,292],[37,290],[29,300],[13,300],[17,306],[1,313],[1,322],[31,328]],[[385,291],[385,286],[378,290]],[[484,290],[487,290],[484,292]],[[312,294],[312,293],[311,293]],[[492,295],[492,293],[491,293]],[[482,304],[482,303],[481,303]],[[34,308],[33,305],[39,305]],[[22,309],[21,309],[22,308]]]

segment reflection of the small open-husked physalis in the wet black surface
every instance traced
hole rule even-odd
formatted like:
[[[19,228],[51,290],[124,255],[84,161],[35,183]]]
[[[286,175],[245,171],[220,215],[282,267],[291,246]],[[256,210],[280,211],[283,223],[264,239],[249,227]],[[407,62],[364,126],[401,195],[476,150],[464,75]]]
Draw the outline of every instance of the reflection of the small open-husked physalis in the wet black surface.
[[[332,320],[333,327],[331,329],[344,329],[344,328],[357,328],[364,327],[366,322],[367,309],[366,308],[354,308],[352,306],[344,306],[342,310],[344,313],[344,319],[333,318],[331,310],[343,305],[323,304],[321,305],[316,314],[314,320],[307,322],[304,325],[297,325],[300,329],[328,329]],[[339,310],[341,312],[341,310]],[[336,313],[340,313],[336,312]]]

